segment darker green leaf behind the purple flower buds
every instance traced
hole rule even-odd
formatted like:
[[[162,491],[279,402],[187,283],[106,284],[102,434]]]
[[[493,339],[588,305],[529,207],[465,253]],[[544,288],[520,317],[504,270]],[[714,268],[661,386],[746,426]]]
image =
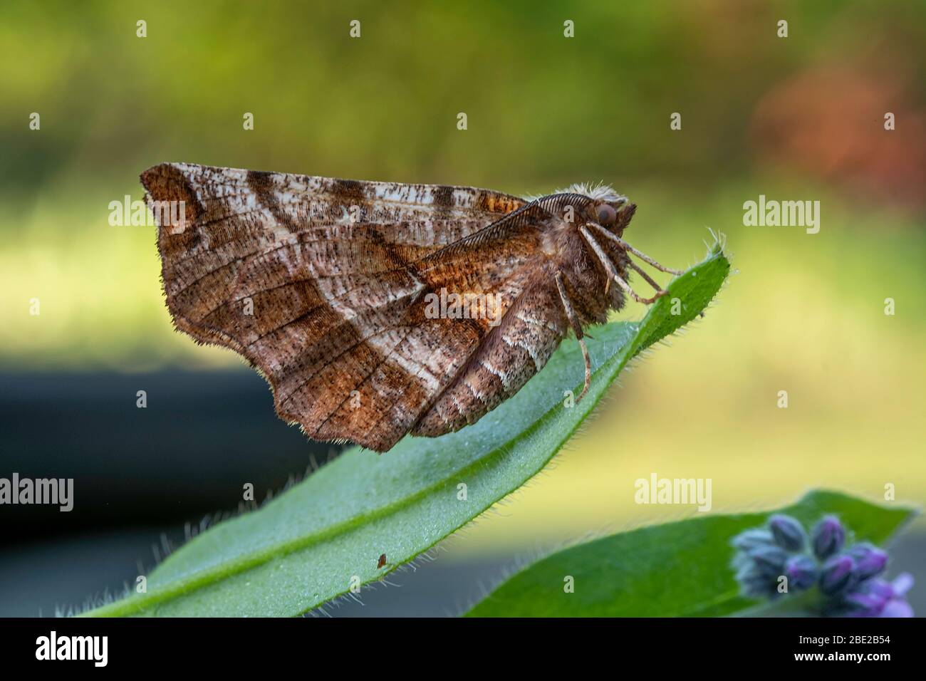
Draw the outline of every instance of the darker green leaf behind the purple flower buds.
[[[838,515],[856,540],[880,544],[909,520],[903,506],[877,506],[838,492],[813,491],[780,511],[714,515],[643,527],[553,553],[506,582],[471,617],[694,617],[756,606],[745,599],[730,563],[733,536],[775,512],[809,526]],[[566,593],[565,575],[574,579]],[[782,599],[783,600],[783,599]]]

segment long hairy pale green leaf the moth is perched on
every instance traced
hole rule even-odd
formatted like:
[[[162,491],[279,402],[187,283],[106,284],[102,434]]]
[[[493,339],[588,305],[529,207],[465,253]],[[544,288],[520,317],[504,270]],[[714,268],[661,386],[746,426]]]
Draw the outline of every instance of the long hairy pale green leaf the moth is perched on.
[[[147,593],[86,614],[296,615],[381,578],[540,471],[627,362],[694,319],[729,271],[715,246],[643,321],[593,329],[593,381],[574,407],[564,406],[564,389],[579,394],[584,364],[571,339],[479,422],[439,438],[407,437],[383,455],[349,449],[260,510],[196,536],[148,575]]]

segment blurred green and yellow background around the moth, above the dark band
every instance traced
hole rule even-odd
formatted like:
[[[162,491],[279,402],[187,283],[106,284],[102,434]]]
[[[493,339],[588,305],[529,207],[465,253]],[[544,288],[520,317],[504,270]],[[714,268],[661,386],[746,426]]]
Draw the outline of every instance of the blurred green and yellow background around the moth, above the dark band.
[[[154,228],[108,223],[162,161],[514,194],[604,181],[638,204],[635,246],[683,266],[710,228],[739,272],[451,554],[694,513],[635,505],[653,472],[712,478],[714,511],[815,486],[926,500],[922,2],[5,2],[0,45],[0,372],[250,371],[173,331]],[[820,233],[744,226],[758,195],[819,200]]]

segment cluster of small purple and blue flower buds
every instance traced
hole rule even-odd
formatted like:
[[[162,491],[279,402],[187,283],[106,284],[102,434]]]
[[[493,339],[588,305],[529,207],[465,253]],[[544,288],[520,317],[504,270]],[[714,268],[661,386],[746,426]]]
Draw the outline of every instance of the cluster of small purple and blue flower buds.
[[[733,537],[736,581],[745,596],[766,599],[816,587],[824,616],[912,617],[904,595],[913,578],[881,579],[887,554],[867,542],[847,545],[845,534],[832,515],[809,536],[794,518],[773,515],[764,527]]]

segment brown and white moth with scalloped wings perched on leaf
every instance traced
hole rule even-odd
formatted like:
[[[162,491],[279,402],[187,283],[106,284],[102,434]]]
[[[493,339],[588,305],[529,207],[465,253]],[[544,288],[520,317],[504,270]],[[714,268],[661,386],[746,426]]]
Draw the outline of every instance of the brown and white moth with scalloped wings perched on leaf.
[[[570,331],[582,399],[583,329],[665,294],[634,259],[681,274],[624,241],[636,207],[608,186],[521,198],[187,163],[141,179],[176,327],[243,355],[308,437],[379,452],[478,421]]]

